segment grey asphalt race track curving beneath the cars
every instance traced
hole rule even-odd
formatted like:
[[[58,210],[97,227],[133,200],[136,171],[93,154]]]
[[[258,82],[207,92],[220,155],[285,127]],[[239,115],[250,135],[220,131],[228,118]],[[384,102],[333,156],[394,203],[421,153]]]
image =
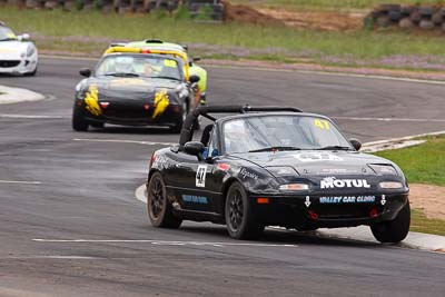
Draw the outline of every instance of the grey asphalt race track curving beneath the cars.
[[[73,132],[83,66],[42,59],[34,78],[0,78],[49,96],[0,105],[0,296],[444,296],[443,254],[279,230],[237,241],[210,224],[152,228],[135,189],[156,143],[178,137]],[[364,141],[445,130],[443,85],[208,69],[210,103],[291,105]]]

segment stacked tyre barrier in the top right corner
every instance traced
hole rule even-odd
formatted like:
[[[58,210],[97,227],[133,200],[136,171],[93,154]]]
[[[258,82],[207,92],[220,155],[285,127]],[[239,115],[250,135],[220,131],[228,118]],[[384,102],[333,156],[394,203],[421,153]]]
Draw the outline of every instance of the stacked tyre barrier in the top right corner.
[[[445,31],[445,6],[382,4],[365,18],[364,27]]]

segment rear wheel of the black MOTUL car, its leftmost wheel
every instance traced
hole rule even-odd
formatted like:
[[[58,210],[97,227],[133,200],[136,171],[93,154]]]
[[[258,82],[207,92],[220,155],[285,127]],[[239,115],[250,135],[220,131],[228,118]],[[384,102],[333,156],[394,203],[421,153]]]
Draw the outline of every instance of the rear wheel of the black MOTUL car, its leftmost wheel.
[[[155,227],[179,228],[182,222],[172,214],[172,206],[167,200],[166,184],[159,172],[155,172],[148,181],[147,212]]]

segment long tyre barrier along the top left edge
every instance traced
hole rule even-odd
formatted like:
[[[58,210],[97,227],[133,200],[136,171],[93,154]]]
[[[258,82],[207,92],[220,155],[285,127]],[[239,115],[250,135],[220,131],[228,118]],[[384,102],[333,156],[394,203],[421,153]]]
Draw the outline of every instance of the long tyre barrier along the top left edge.
[[[167,11],[169,16],[180,7],[192,19],[222,21],[225,6],[221,0],[0,0],[1,3],[27,9],[63,9],[65,11],[100,10],[117,13],[149,13]]]

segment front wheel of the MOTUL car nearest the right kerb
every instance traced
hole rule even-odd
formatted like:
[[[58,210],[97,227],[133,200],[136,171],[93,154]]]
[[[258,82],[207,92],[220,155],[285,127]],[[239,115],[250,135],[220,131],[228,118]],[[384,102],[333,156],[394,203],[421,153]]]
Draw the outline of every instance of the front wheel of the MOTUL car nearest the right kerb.
[[[407,201],[394,220],[372,225],[370,230],[378,241],[396,244],[408,235],[409,224],[411,209],[409,201]]]

